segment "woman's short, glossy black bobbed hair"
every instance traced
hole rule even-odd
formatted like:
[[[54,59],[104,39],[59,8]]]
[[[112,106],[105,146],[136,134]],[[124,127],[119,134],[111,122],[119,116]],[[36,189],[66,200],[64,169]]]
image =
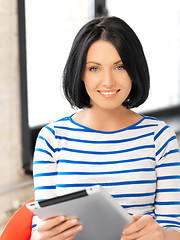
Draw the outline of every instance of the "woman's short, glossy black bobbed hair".
[[[63,71],[64,95],[75,108],[89,108],[90,97],[86,92],[83,72],[87,52],[97,40],[106,40],[116,48],[124,68],[132,80],[132,88],[123,105],[138,107],[149,95],[150,81],[147,61],[135,32],[117,17],[96,18],[85,24],[76,35]]]

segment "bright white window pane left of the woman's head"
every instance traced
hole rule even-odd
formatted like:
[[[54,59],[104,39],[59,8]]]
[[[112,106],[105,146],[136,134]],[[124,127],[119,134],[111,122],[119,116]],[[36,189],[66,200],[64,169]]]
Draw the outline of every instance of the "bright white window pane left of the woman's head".
[[[84,0],[25,1],[30,127],[73,112],[60,82],[72,41],[91,17],[90,8]]]

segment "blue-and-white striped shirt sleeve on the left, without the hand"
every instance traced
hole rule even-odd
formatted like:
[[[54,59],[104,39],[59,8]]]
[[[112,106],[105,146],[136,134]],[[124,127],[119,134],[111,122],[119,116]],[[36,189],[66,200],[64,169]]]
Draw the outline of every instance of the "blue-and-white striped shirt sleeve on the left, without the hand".
[[[44,200],[56,196],[56,147],[55,131],[53,124],[41,129],[36,140],[33,158],[33,180],[35,200]],[[41,221],[33,216],[32,236],[36,232],[36,226]]]

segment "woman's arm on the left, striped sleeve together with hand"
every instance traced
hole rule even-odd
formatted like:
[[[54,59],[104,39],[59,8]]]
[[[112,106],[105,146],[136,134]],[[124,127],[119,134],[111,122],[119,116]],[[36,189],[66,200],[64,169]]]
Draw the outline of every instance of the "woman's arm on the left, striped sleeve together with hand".
[[[42,200],[55,197],[56,194],[56,148],[55,131],[52,125],[44,127],[37,138],[33,177],[35,187],[35,199]],[[66,220],[64,216],[40,220],[33,217],[32,240],[62,239],[71,240],[82,230],[77,219]]]

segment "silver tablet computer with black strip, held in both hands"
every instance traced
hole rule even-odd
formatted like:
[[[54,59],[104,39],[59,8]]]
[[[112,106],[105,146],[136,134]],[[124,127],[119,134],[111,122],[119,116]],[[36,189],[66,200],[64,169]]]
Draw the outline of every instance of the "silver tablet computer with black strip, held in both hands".
[[[101,186],[26,204],[41,219],[64,215],[83,224],[75,240],[119,240],[133,219]]]

